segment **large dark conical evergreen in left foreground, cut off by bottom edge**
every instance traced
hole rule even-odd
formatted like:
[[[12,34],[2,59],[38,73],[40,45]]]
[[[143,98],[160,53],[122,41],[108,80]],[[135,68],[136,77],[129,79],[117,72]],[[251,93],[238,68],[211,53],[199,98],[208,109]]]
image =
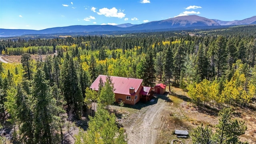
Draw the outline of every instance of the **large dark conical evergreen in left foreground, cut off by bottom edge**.
[[[56,99],[50,93],[45,74],[38,69],[33,82],[34,97],[34,142],[53,144],[59,138],[59,116]]]

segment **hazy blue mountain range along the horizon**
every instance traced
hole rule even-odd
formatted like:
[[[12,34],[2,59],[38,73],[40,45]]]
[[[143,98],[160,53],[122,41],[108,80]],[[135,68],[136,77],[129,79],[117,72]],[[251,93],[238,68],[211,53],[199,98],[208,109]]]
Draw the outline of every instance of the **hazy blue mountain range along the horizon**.
[[[204,27],[216,26],[234,26],[234,25],[248,25],[256,24],[256,16],[246,18],[244,20],[222,21],[216,19],[208,19],[197,15],[179,16],[169,18],[166,20],[152,21],[144,24],[119,24],[119,25],[76,25],[47,28],[44,30],[22,30],[22,29],[2,29],[0,28],[0,37],[14,37],[22,35],[36,35],[36,34],[67,34],[67,33],[83,33],[92,34],[92,32],[131,32],[131,31],[152,31],[152,30],[172,30],[172,29],[195,29]]]

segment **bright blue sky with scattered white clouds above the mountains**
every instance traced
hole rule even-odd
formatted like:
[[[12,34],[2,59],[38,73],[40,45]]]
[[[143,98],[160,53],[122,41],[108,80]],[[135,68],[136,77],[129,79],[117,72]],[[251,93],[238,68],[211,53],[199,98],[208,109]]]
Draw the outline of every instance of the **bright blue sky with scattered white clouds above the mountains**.
[[[196,14],[224,21],[256,16],[256,0],[0,0],[0,28],[142,24]]]

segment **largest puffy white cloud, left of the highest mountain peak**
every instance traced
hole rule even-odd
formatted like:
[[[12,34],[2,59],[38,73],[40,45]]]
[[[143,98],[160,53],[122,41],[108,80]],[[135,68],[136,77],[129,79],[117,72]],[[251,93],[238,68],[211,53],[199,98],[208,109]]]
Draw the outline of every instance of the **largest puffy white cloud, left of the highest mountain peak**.
[[[104,15],[106,17],[116,17],[116,18],[123,18],[125,16],[124,13],[118,12],[118,10],[115,7],[111,9],[101,8],[99,12],[97,12],[97,14]]]

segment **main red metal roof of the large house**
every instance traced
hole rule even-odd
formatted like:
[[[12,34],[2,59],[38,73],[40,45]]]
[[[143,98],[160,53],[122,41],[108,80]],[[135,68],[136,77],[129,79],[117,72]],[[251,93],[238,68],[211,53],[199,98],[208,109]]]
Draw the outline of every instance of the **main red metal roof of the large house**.
[[[105,75],[99,75],[96,80],[92,83],[90,88],[93,90],[98,90],[99,82],[100,82],[100,77],[102,78],[103,82],[106,82],[106,77]],[[137,78],[124,78],[124,77],[118,77],[118,76],[110,76],[112,79],[112,83],[114,84],[114,93],[116,94],[124,94],[124,95],[131,95],[130,94],[130,88],[134,88],[135,92],[138,91],[140,85],[142,84],[142,79],[137,79]]]

